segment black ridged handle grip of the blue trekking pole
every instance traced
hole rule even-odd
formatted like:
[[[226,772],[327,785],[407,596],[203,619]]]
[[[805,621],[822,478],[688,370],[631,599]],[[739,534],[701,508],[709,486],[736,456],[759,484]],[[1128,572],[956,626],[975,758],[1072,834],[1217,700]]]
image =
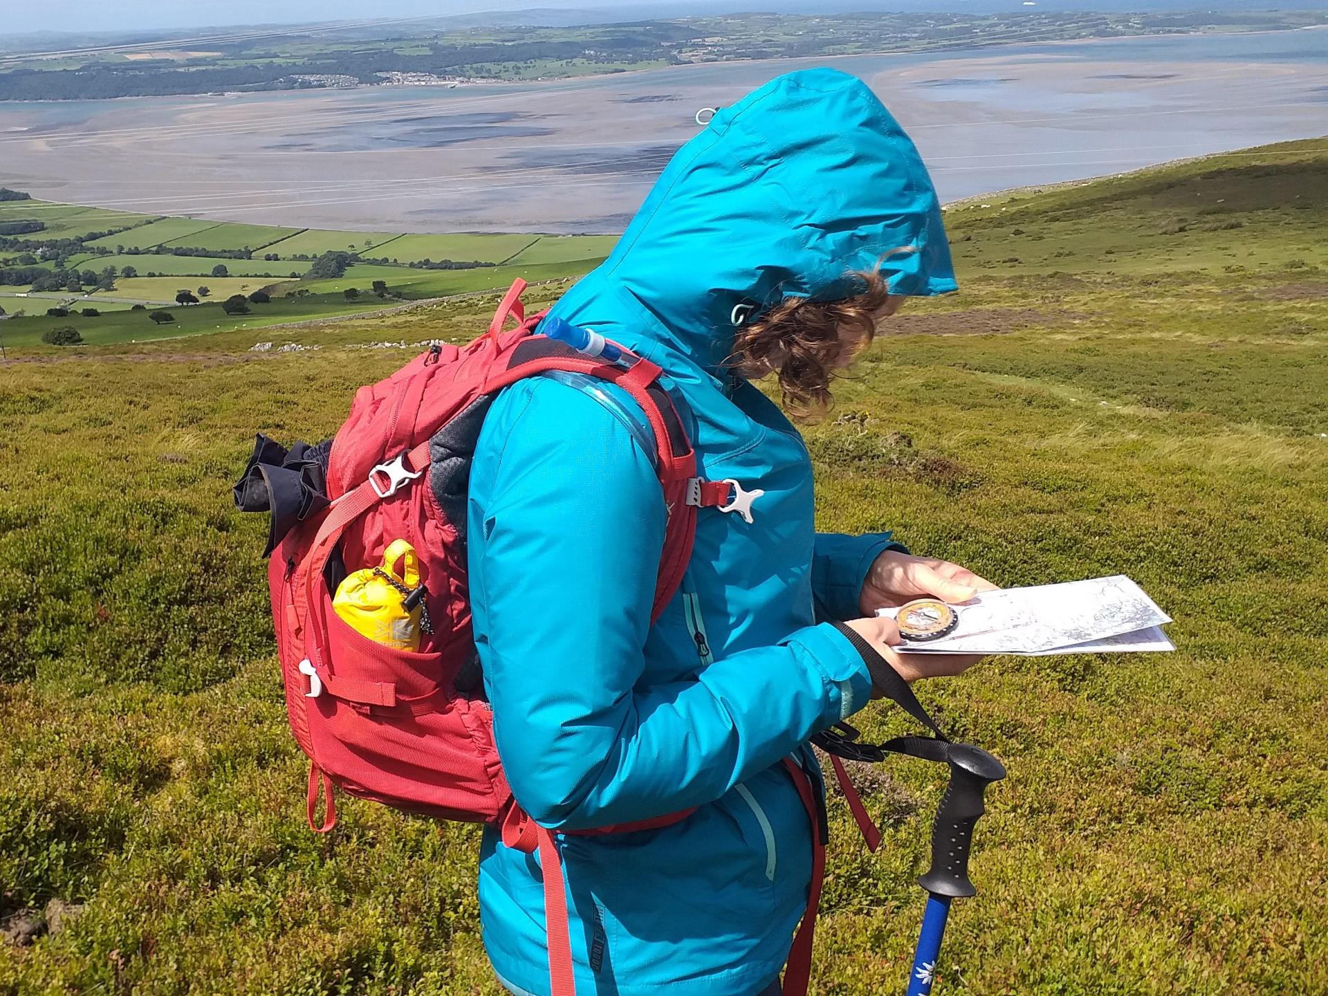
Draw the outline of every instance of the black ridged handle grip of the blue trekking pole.
[[[950,744],[950,785],[931,829],[931,869],[918,884],[938,896],[969,896],[977,890],[968,879],[968,853],[973,826],[985,811],[987,786],[1005,777],[1005,766],[971,744]]]

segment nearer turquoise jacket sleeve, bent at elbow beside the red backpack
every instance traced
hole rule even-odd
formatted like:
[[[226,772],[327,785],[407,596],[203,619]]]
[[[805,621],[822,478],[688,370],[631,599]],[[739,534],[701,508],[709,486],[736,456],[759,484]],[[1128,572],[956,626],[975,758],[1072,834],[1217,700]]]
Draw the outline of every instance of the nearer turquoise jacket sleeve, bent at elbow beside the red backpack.
[[[473,477],[475,639],[503,769],[539,823],[710,802],[869,701],[862,657],[827,624],[644,684],[663,494],[629,432],[576,389],[505,392]]]

